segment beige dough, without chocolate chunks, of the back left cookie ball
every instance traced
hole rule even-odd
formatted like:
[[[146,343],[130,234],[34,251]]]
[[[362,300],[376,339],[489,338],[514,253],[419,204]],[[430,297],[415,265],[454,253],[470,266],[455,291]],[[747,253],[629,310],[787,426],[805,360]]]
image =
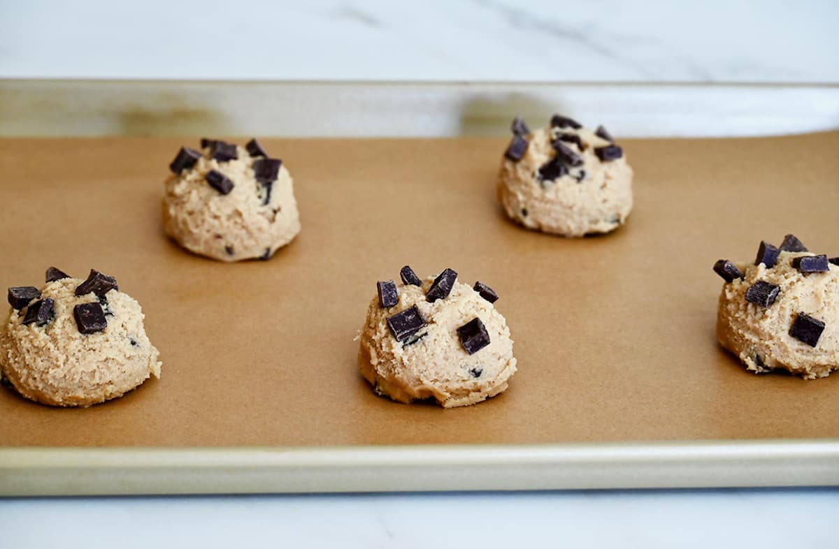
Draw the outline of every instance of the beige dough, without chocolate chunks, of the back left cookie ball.
[[[193,168],[166,180],[163,199],[166,233],[187,250],[223,262],[270,257],[300,232],[285,163],[268,204],[263,205],[265,191],[253,174],[254,158],[243,147],[237,146],[237,153],[234,160],[218,162],[205,148]],[[206,182],[211,169],[232,180],[230,194],[221,194]]]

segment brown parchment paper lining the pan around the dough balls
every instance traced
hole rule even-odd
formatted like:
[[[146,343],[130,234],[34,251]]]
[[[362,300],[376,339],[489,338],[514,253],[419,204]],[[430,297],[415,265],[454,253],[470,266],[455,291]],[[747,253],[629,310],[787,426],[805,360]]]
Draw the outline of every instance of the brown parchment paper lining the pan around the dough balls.
[[[197,137],[196,137],[197,139]],[[4,287],[55,265],[117,277],[143,306],[162,379],[56,409],[0,391],[4,447],[331,448],[839,437],[839,376],[753,375],[716,344],[720,257],[793,232],[839,254],[839,132],[627,140],[636,206],[609,236],[520,229],[495,202],[505,140],[264,140],[303,230],[224,264],[163,234],[180,139],[4,139]],[[452,267],[501,296],[519,373],[475,407],[375,396],[357,342],[377,280]]]

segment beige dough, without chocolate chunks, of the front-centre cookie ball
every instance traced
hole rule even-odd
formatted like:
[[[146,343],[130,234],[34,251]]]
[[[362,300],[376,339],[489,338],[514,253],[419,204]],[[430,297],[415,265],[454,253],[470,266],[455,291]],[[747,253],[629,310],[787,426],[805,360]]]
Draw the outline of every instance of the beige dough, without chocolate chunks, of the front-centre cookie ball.
[[[513,339],[507,322],[492,303],[472,287],[456,282],[445,299],[425,298],[434,277],[422,287],[397,282],[399,303],[381,308],[373,298],[361,332],[358,365],[381,395],[410,402],[434,397],[444,408],[467,406],[507,389],[516,371]],[[388,329],[388,317],[416,305],[428,323],[413,344],[403,345]],[[490,344],[474,355],[463,350],[457,329],[475,317],[487,328]],[[479,376],[472,371],[480,370]]]

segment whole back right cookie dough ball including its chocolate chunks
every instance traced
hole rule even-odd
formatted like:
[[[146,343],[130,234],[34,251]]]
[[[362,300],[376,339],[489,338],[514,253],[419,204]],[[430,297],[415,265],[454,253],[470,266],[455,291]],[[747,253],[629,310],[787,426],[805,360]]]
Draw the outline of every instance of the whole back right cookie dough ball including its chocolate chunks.
[[[530,132],[513,121],[498,174],[498,199],[529,229],[584,236],[617,229],[633,206],[633,170],[603,127],[596,132],[556,115]]]

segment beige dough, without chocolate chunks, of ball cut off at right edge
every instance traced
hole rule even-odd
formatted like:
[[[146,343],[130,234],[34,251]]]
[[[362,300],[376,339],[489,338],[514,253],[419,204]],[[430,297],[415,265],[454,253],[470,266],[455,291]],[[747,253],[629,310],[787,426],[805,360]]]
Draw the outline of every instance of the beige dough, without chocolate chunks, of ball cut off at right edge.
[[[744,278],[722,287],[717,339],[748,370],[763,373],[783,369],[811,380],[839,368],[839,267],[831,265],[829,272],[808,274],[792,267],[795,257],[812,255],[782,251],[778,263],[769,269],[763,263],[736,264]],[[746,290],[758,280],[780,287],[778,298],[767,308],[746,301]],[[825,323],[816,347],[789,335],[798,313]]]

